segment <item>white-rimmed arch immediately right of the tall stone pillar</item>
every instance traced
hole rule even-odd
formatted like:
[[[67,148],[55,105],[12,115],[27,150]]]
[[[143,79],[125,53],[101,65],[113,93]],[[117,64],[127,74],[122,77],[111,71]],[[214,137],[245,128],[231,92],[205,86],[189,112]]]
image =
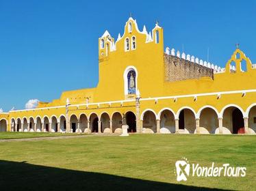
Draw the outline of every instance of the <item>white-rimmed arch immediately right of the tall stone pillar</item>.
[[[155,111],[147,109],[142,113],[142,133],[157,132],[157,115]]]

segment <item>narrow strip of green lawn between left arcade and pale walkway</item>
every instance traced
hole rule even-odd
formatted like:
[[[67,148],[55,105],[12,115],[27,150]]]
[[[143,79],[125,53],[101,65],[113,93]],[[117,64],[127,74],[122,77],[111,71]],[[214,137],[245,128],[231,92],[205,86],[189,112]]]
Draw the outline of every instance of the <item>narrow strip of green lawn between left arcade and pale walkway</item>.
[[[77,134],[49,133],[49,132],[0,132],[0,139],[34,138],[34,137],[48,137],[48,136],[70,136],[70,135],[77,135]]]

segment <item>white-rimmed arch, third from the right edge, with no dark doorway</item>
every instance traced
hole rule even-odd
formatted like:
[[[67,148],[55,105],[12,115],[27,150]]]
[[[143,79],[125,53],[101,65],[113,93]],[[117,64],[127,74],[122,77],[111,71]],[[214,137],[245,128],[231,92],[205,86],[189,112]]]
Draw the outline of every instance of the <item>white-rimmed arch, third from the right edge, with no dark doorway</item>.
[[[218,110],[213,106],[203,106],[199,109],[199,132],[201,134],[215,134],[218,129]]]

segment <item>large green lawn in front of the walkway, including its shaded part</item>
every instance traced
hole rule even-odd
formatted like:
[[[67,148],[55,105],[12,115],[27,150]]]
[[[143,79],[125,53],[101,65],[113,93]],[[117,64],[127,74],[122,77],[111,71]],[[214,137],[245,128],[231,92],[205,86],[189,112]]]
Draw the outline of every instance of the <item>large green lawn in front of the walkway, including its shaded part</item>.
[[[1,137],[1,135],[0,135]],[[246,166],[176,180],[175,162]],[[255,190],[256,136],[133,134],[0,143],[1,190]]]

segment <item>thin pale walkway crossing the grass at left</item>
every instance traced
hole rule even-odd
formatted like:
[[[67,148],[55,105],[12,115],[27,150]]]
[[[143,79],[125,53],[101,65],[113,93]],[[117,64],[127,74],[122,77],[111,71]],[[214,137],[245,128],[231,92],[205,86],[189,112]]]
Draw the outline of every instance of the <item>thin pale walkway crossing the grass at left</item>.
[[[46,137],[33,137],[33,138],[9,138],[0,139],[2,142],[18,142],[18,141],[41,141],[41,140],[55,140],[61,138],[84,138],[90,136],[118,136],[118,134],[90,134],[90,135],[70,135],[70,136],[46,136]]]

